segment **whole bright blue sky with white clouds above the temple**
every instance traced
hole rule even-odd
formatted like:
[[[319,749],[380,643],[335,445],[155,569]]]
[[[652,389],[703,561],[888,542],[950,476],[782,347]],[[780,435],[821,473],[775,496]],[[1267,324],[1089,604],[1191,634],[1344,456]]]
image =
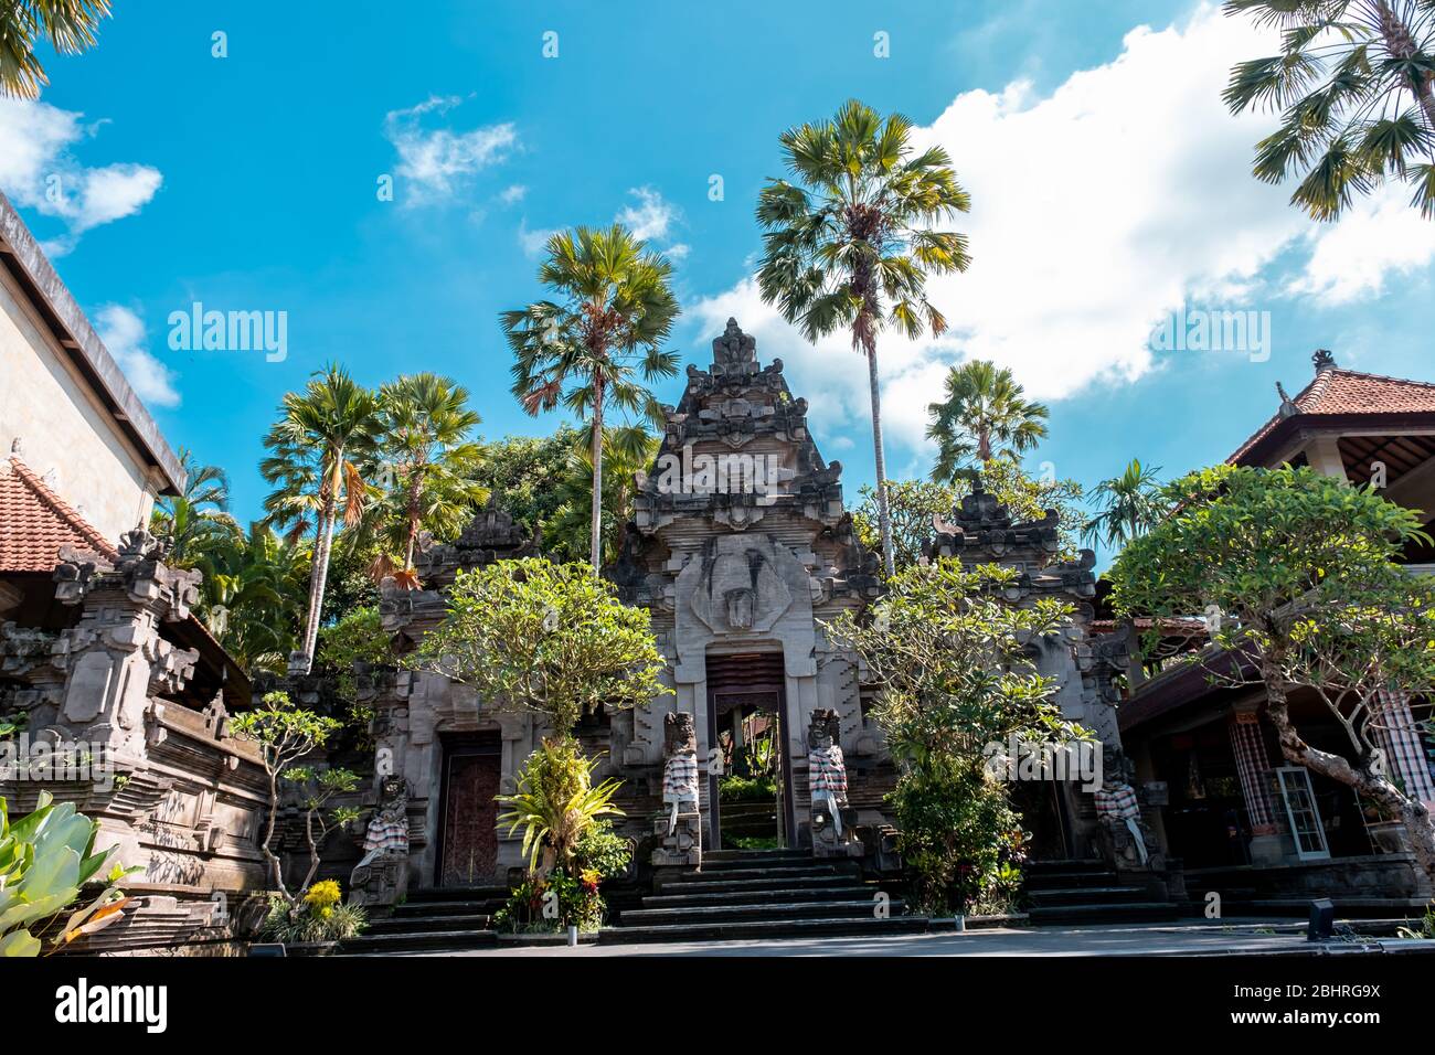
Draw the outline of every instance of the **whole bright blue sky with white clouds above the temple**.
[[[1230,118],[1217,95],[1234,59],[1266,49],[1211,7],[336,9],[121,4],[98,49],[47,62],[40,105],[0,102],[0,188],[171,444],[231,472],[241,517],[263,500],[280,396],[330,359],[369,383],[449,373],[486,436],[551,428],[508,395],[497,314],[540,296],[542,233],[620,214],[677,260],[683,359],[706,365],[736,314],[759,356],[784,357],[855,495],[871,479],[861,362],[841,340],[806,346],[745,281],[778,133],[850,96],[943,142],[974,202],[957,227],[976,264],[933,287],[953,332],[883,347],[894,475],[926,472],[923,408],[964,356],[1012,366],[1050,403],[1030,464],[1086,485],[1134,455],[1168,475],[1224,458],[1274,411],[1277,379],[1306,383],[1319,346],[1435,379],[1435,225],[1382,198],[1317,228],[1256,184],[1270,119]],[[376,194],[383,175],[395,201]],[[195,300],[286,311],[287,357],[171,350],[166,319]],[[1149,327],[1181,306],[1269,313],[1269,346],[1152,350]]]

